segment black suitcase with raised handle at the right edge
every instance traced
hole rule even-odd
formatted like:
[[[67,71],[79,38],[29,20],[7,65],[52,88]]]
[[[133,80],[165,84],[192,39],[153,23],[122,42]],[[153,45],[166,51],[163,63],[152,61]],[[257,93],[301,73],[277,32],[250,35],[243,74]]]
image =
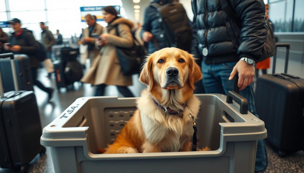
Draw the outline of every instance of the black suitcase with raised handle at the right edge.
[[[290,45],[276,46],[287,48],[284,73],[275,74],[275,55],[272,74],[257,78],[255,108],[265,123],[267,140],[284,157],[304,150],[304,79],[287,74]]]

